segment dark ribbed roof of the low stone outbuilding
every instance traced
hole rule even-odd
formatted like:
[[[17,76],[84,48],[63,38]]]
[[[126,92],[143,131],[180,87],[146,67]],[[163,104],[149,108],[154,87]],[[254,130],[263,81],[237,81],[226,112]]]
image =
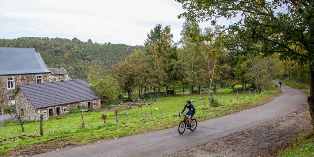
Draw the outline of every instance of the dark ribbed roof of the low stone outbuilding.
[[[19,89],[36,109],[100,99],[84,79],[20,84],[14,93]]]

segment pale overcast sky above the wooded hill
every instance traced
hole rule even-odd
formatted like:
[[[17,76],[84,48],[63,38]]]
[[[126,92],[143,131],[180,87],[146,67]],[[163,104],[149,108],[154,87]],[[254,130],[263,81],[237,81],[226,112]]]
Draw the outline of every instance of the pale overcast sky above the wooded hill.
[[[156,24],[170,25],[178,41],[185,19],[181,4],[174,0],[0,0],[0,38],[77,37],[93,42],[143,45]],[[218,24],[228,25],[220,20]],[[200,24],[210,26],[210,22]]]

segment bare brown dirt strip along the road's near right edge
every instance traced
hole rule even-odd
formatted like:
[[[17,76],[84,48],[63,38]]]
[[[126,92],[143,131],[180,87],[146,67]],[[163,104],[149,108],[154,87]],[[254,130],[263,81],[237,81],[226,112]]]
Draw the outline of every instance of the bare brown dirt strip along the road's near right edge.
[[[308,112],[306,106],[298,111]],[[279,151],[290,146],[294,137],[311,129],[309,120],[290,113],[257,127],[169,156],[276,156]]]

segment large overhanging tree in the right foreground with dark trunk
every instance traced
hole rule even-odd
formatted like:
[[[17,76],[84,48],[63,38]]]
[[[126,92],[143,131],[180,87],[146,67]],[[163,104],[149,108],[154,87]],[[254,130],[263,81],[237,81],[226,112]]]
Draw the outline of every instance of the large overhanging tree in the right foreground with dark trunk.
[[[310,96],[307,98],[314,122],[314,2],[306,0],[177,0],[186,12],[178,18],[188,20],[231,19],[234,24],[222,27],[228,31],[228,49],[247,54],[278,53],[280,59],[307,64],[310,73]],[[278,12],[277,8],[285,8]],[[313,123],[314,128],[314,123]],[[313,129],[314,131],[314,129]]]

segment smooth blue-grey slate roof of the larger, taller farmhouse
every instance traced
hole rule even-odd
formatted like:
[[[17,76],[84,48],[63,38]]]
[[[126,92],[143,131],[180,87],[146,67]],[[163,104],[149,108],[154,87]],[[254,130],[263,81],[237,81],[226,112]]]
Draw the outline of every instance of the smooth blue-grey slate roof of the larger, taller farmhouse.
[[[34,48],[0,47],[0,76],[50,73]]]

